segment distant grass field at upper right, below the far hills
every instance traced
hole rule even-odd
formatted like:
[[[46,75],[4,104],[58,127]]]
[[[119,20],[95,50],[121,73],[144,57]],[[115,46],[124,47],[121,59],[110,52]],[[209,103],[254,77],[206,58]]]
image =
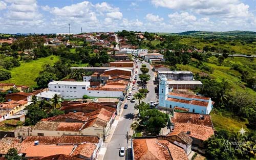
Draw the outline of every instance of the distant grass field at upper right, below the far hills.
[[[187,44],[189,46],[195,46],[197,49],[203,49],[206,45],[209,47],[216,47],[216,48],[222,48],[222,49],[227,49],[230,52],[234,51],[236,54],[251,54],[255,55],[256,54],[256,45],[255,43],[245,43],[242,44],[240,41],[234,41],[236,45],[231,45],[229,42],[226,44],[220,44],[219,42],[200,42],[197,38],[181,38],[180,43],[182,44]],[[214,45],[214,44],[217,45]]]

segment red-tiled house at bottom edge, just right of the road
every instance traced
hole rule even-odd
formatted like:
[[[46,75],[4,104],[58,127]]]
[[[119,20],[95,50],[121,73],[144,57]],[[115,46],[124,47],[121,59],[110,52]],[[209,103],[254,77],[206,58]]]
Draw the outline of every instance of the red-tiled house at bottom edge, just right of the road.
[[[141,137],[132,139],[133,160],[188,159],[186,152],[179,146],[157,137]]]

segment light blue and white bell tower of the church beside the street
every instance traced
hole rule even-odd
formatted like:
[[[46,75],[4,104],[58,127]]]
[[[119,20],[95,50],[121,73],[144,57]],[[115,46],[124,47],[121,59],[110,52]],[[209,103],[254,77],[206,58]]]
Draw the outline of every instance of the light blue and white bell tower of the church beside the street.
[[[159,106],[166,107],[166,99],[169,92],[169,84],[165,75],[160,79],[159,83]]]

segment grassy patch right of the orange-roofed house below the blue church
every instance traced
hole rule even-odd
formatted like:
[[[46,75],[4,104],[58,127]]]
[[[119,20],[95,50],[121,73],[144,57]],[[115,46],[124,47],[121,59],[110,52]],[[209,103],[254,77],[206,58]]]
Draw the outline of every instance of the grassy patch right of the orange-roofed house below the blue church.
[[[211,120],[216,130],[226,129],[228,131],[239,131],[242,127],[246,130],[247,121],[236,120],[222,115],[221,112],[211,112]],[[228,125],[227,125],[228,124]]]

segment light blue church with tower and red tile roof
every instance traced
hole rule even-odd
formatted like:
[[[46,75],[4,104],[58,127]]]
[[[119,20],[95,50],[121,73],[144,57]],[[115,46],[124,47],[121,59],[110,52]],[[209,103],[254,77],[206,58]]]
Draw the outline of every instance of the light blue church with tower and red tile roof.
[[[214,102],[208,97],[170,93],[165,75],[160,80],[158,108],[173,110],[180,107],[189,109],[189,112],[209,115],[213,105]]]

